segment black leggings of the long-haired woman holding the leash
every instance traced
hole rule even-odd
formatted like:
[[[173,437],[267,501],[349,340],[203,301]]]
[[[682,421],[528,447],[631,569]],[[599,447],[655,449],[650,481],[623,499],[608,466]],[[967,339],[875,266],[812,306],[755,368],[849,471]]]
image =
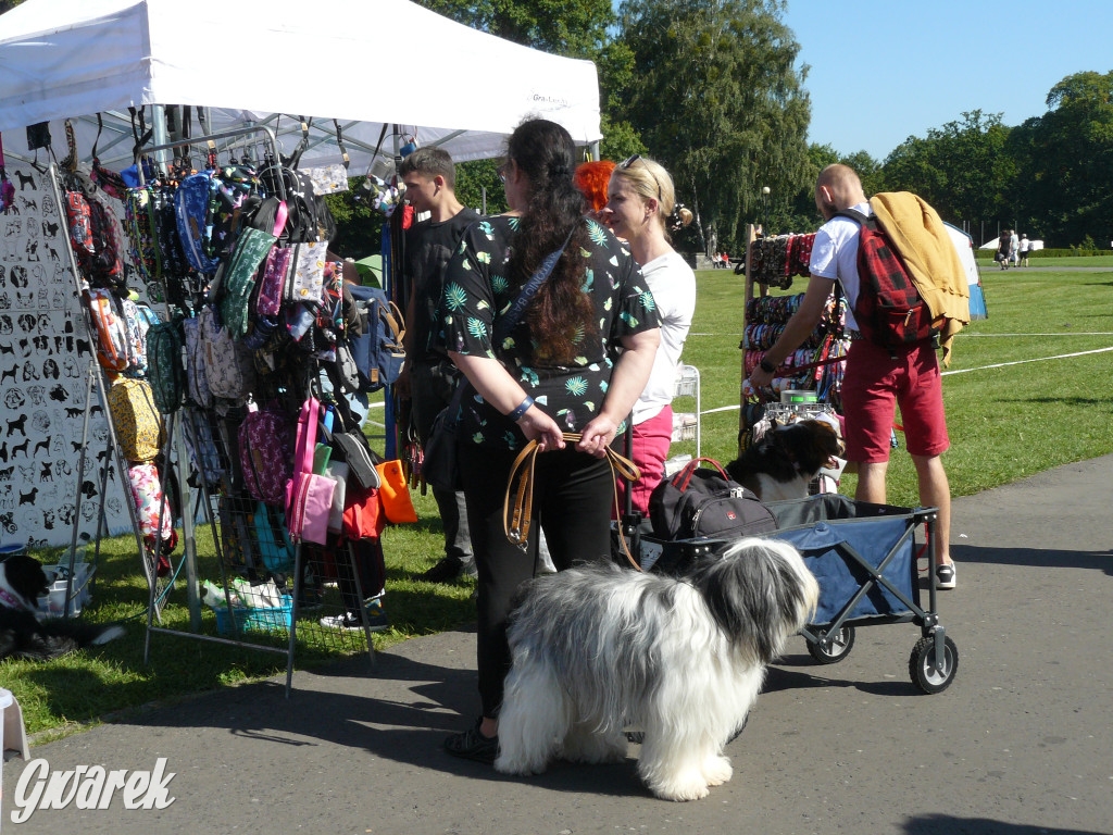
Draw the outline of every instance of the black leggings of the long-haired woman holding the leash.
[[[610,560],[614,480],[607,459],[564,450],[538,455],[529,548],[523,552],[503,532],[503,499],[515,452],[460,445],[460,468],[467,499],[467,524],[479,569],[476,655],[483,715],[499,715],[503,679],[510,670],[506,618],[518,587],[533,577],[538,525],[553,564],[563,571],[577,562]]]

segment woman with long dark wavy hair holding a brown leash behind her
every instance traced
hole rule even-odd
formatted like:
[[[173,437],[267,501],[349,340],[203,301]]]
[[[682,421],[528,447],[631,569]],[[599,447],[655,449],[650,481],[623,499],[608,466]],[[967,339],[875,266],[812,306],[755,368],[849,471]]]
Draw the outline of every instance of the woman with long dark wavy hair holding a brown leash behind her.
[[[462,406],[459,461],[479,569],[476,638],[482,716],[445,740],[456,756],[493,762],[510,667],[506,618],[534,573],[538,525],[553,563],[610,559],[613,481],[605,460],[649,379],[658,316],[638,265],[612,233],[583,217],[572,180],[575,147],[552,121],[510,137],[500,168],[511,210],[465,233],[444,279],[449,355],[475,389]],[[541,262],[549,278],[501,344],[493,330]],[[581,432],[577,443],[563,433]],[[528,549],[503,532],[514,458],[539,443]]]

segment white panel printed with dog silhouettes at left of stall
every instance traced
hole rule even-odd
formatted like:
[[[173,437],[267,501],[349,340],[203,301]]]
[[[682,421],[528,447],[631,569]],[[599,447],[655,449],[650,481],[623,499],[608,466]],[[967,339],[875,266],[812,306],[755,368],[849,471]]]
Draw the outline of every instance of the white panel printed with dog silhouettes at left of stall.
[[[99,402],[78,472],[95,346],[70,267],[65,214],[46,175],[12,165],[7,174],[16,199],[0,215],[0,542],[68,546],[78,493],[79,530],[93,536],[105,466],[108,530],[124,533],[131,529],[128,493],[108,454]]]

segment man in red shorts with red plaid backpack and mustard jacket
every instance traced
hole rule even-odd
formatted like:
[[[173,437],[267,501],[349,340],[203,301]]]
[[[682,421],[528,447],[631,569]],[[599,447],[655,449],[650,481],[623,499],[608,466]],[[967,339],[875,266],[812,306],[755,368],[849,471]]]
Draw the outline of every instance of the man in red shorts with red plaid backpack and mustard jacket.
[[[888,227],[878,233],[873,204],[877,204],[886,219],[897,217],[903,224],[898,224],[899,240],[890,240]],[[907,210],[909,204],[912,209]],[[957,330],[951,320],[963,321],[959,282],[965,285],[966,279],[962,265],[945,229],[942,237],[951,249],[933,248],[938,238],[933,239],[929,233],[935,224],[942,227],[934,209],[908,194],[878,195],[874,202],[867,200],[858,175],[847,166],[831,165],[820,171],[816,207],[826,223],[816,233],[812,245],[808,289],[781,337],[750,374],[750,383],[769,385],[778,366],[812,333],[834,283],[838,282],[847,298],[846,325],[851,333],[843,404],[847,459],[858,464],[855,499],[885,503],[894,405],[899,404],[908,452],[916,466],[920,504],[938,508],[934,542],[936,588],[953,589],[951,487],[940,459],[951,442],[933,332],[939,322],[945,322],[943,336],[948,347],[949,337]],[[917,229],[919,218],[923,226]],[[928,234],[924,234],[925,228]],[[902,248],[895,243],[912,246]],[[916,247],[923,249],[912,252]],[[859,249],[867,257],[860,257]],[[953,261],[949,255],[954,255]],[[908,263],[916,264],[918,283],[909,279],[912,271],[906,272],[905,267]],[[924,292],[944,314],[933,315],[933,310],[919,297],[924,282]],[[894,308],[903,308],[904,314],[886,318],[885,312],[892,314]]]

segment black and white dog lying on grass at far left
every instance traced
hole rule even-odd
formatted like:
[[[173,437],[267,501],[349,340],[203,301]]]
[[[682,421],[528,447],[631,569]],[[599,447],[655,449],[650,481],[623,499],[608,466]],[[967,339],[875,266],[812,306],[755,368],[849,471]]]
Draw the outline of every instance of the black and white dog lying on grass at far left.
[[[52,582],[53,578],[33,557],[12,554],[0,562],[0,660],[11,657],[49,661],[124,636],[119,625],[41,622],[35,613],[36,601]]]

